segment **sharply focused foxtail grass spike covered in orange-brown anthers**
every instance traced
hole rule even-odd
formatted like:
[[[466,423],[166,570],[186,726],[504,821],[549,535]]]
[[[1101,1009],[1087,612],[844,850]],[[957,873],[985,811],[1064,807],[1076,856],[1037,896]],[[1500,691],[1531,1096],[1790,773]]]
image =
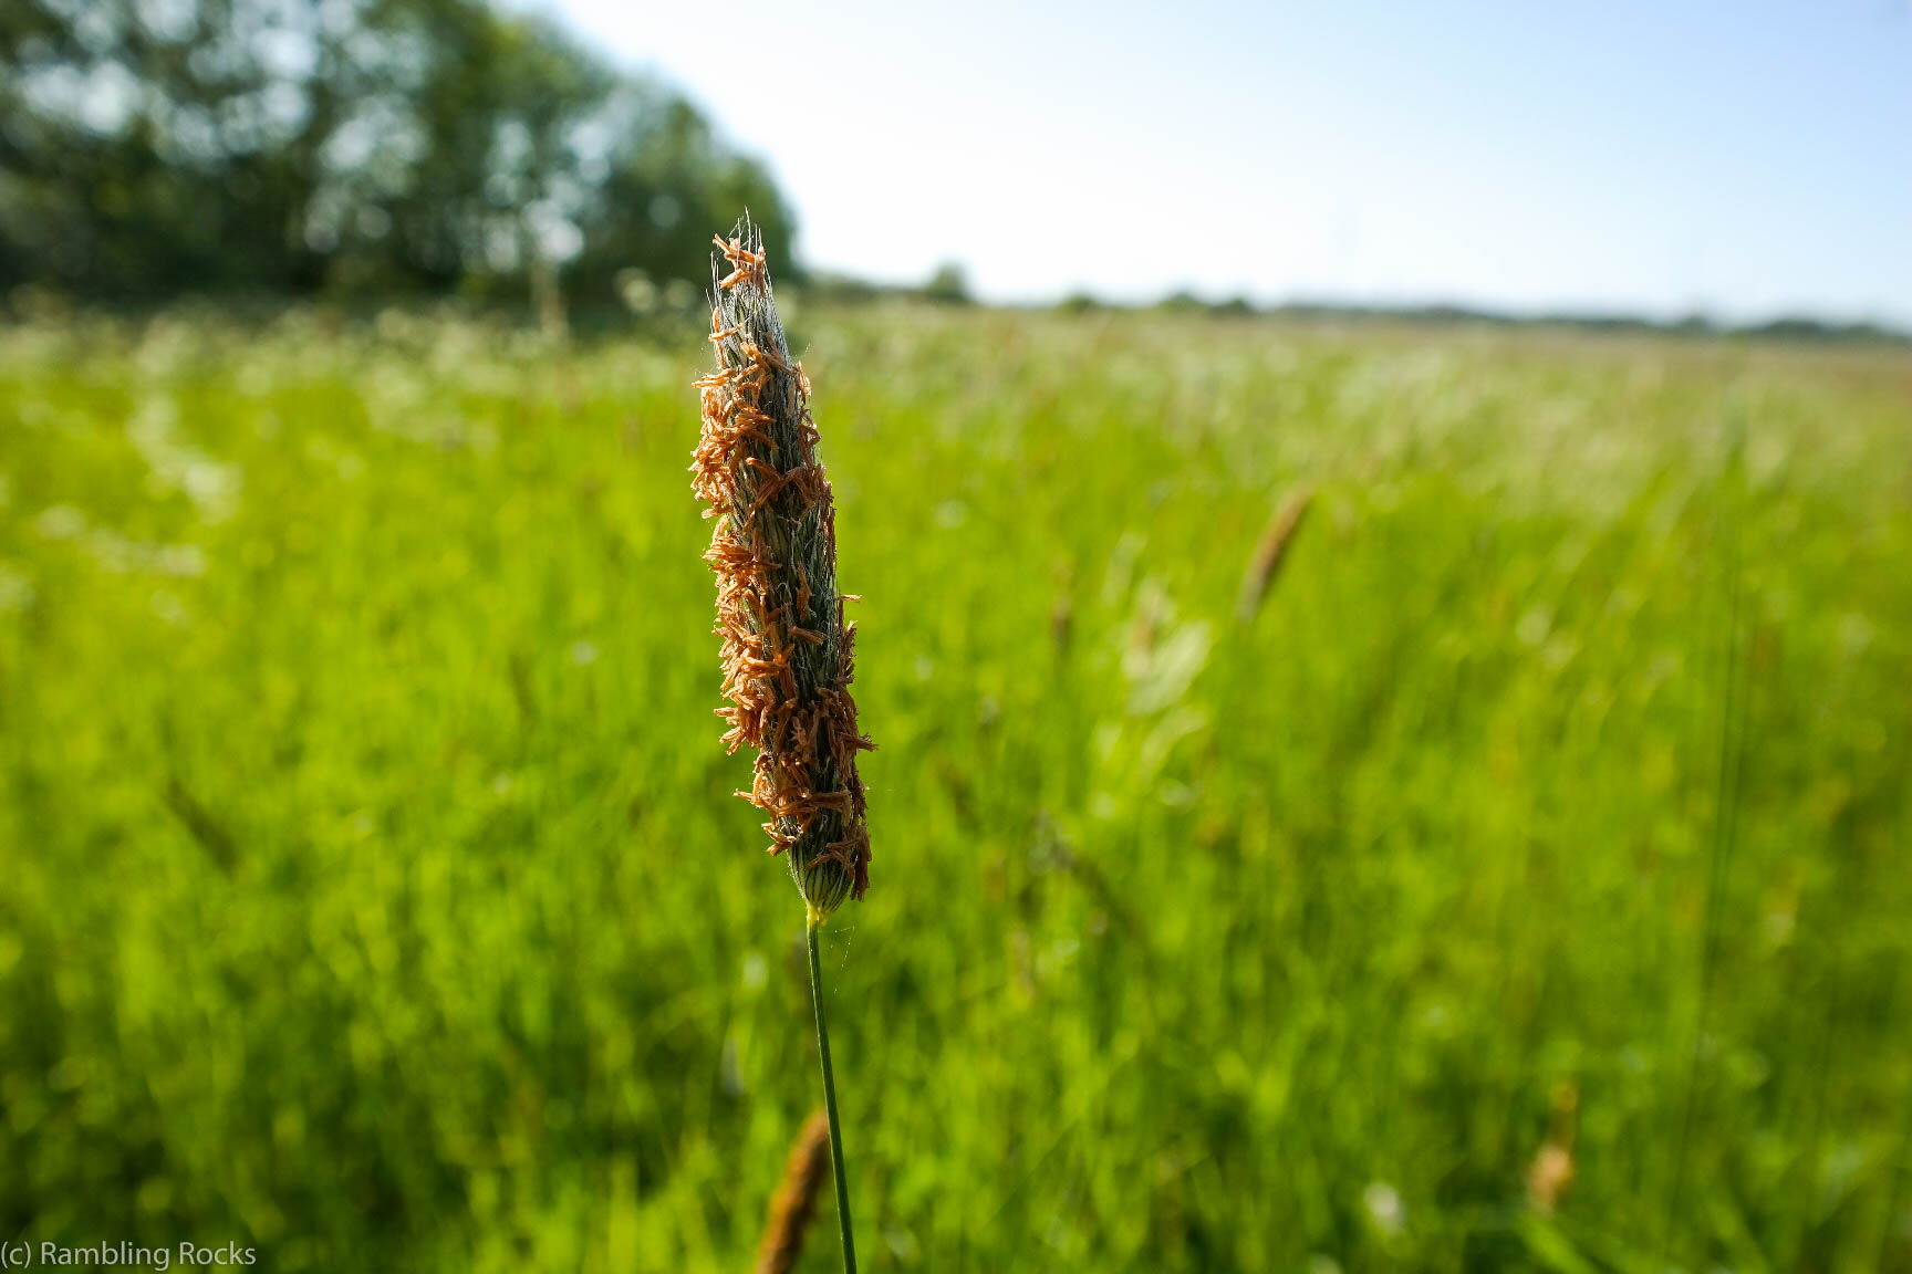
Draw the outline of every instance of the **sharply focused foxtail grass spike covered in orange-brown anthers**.
[[[771,816],[772,854],[809,915],[826,919],[870,884],[851,699],[855,625],[836,579],[836,508],[816,458],[811,384],[790,357],[771,296],[763,233],[750,216],[711,256],[717,369],[698,380],[704,434],[692,487],[715,518],[706,562],[717,573],[723,638],[719,709],[734,753],[757,749],[748,793]]]

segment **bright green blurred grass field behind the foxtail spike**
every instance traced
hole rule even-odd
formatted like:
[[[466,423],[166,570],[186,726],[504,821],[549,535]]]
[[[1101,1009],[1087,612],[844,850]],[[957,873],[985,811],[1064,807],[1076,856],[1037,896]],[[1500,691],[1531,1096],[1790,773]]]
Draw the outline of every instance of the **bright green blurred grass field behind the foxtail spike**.
[[[866,1268],[1912,1270],[1912,353],[786,317]],[[750,1266],[702,323],[0,329],[0,1238]]]

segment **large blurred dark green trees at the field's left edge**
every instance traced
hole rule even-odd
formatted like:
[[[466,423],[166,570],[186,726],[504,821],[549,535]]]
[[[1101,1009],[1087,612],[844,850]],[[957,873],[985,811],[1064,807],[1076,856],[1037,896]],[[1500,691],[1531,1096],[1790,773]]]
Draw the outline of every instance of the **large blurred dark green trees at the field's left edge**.
[[[0,6],[0,287],[465,290],[702,281],[765,170],[667,90],[484,0]]]

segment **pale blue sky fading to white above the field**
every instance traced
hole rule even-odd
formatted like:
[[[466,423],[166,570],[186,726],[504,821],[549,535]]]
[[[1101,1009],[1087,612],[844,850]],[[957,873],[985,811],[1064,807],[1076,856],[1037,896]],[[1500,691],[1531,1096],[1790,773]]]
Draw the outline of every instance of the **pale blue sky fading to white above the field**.
[[[1912,2],[537,0],[826,269],[1912,325]]]

